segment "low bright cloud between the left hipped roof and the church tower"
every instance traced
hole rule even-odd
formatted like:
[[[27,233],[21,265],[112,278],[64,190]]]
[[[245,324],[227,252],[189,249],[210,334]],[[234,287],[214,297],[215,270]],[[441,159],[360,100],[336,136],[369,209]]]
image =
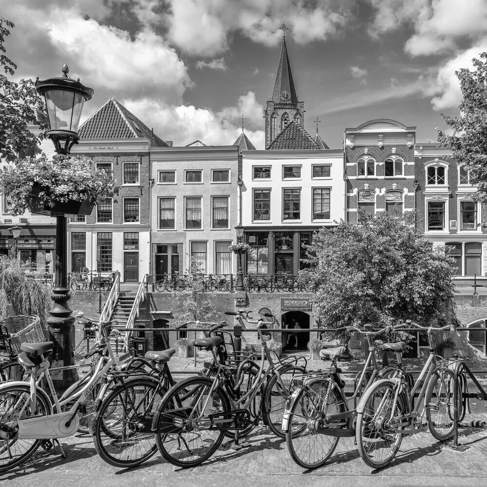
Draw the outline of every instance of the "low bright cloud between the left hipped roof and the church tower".
[[[242,132],[239,117],[247,118],[245,134],[256,148],[264,148],[262,126],[263,107],[253,92],[240,96],[235,107],[225,107],[215,112],[209,108],[192,105],[170,105],[163,100],[143,98],[122,102],[134,115],[164,140],[173,140],[174,145],[183,146],[200,139],[206,145],[233,144]],[[255,128],[255,130],[252,130]]]

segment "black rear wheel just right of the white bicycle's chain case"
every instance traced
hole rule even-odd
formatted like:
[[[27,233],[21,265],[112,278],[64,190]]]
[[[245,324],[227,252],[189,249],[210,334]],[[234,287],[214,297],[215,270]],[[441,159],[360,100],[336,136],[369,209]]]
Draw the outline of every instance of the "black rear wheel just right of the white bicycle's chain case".
[[[132,379],[103,399],[93,421],[93,441],[100,457],[119,468],[135,467],[156,451],[152,418],[164,389],[157,380]]]

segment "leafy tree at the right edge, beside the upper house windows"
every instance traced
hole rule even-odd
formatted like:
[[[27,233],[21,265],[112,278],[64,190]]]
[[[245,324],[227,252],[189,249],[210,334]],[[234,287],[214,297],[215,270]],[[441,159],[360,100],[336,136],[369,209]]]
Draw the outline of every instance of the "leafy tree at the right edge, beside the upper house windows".
[[[455,72],[460,80],[463,100],[460,116],[442,114],[453,135],[439,131],[438,141],[452,151],[452,157],[465,164],[470,183],[478,185],[474,199],[487,202],[487,53],[472,59],[473,71]]]

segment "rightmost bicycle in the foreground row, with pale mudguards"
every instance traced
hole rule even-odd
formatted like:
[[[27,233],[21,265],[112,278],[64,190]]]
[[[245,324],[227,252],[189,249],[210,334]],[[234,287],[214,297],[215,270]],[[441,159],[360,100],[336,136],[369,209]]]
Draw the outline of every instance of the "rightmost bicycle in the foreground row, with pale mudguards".
[[[357,407],[357,447],[371,468],[384,468],[391,463],[403,436],[421,431],[425,412],[428,429],[437,440],[445,441],[453,435],[454,374],[442,360],[436,360],[432,335],[447,329],[453,332],[455,326],[423,327],[409,320],[406,324],[427,331],[430,356],[412,385],[401,365],[404,342],[382,345],[383,350],[395,352],[397,367],[389,378],[373,384]],[[404,324],[394,329],[401,327]]]

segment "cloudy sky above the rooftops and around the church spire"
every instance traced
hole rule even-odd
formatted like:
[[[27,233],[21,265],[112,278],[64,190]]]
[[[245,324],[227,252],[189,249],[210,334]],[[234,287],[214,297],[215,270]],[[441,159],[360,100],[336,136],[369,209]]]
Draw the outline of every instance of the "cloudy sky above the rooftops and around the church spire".
[[[17,78],[60,74],[95,90],[83,118],[113,96],[165,140],[263,148],[262,113],[286,42],[305,128],[340,147],[374,118],[435,140],[455,114],[455,70],[487,51],[487,0],[0,0],[16,27]]]

